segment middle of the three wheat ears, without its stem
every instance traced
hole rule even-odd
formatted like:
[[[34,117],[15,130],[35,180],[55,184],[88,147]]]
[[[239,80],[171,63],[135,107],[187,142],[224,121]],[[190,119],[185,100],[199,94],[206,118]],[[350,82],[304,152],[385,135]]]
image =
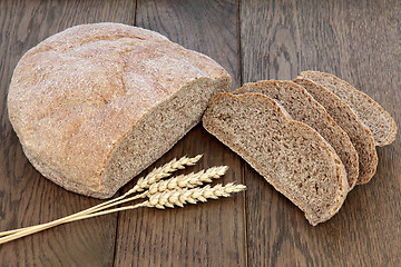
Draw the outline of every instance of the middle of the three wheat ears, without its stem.
[[[194,188],[203,185],[204,182],[212,182],[212,179],[219,178],[227,171],[227,166],[213,167],[199,172],[192,172],[189,175],[180,175],[168,180],[162,180],[150,185],[148,196],[156,192],[163,192],[165,190],[173,190],[179,188]]]

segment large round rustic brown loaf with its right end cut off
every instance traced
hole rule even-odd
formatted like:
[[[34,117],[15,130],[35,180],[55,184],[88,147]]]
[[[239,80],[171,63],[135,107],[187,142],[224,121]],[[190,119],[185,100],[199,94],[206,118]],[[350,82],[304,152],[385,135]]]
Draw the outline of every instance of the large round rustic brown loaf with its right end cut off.
[[[10,121],[31,164],[87,196],[111,197],[199,122],[229,75],[159,33],[118,23],[55,34],[19,61]]]

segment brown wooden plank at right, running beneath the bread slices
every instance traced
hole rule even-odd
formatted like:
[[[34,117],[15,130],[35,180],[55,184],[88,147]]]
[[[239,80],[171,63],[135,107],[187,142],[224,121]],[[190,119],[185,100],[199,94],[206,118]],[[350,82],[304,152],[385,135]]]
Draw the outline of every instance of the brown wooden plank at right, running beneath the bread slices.
[[[332,72],[401,119],[399,1],[242,1],[244,81]],[[372,181],[312,227],[247,168],[250,266],[400,266],[401,144],[378,148]]]

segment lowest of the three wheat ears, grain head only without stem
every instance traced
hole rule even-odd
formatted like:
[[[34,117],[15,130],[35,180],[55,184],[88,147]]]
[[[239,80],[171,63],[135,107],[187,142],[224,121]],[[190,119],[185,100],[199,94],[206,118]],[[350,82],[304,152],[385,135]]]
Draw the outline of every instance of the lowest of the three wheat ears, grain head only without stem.
[[[214,187],[205,186],[203,188],[194,189],[175,189],[164,192],[155,194],[149,197],[148,207],[164,209],[165,207],[173,208],[174,206],[183,207],[184,204],[196,204],[197,201],[207,201],[208,198],[217,199],[219,197],[228,197],[233,192],[245,190],[243,185],[234,185],[233,182],[226,186],[216,185]]]

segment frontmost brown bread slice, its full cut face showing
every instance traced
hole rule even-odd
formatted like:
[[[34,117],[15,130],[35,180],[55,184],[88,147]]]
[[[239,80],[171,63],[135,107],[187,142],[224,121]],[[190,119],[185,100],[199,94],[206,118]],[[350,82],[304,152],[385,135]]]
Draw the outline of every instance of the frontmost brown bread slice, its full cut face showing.
[[[310,224],[323,222],[341,208],[349,186],[339,156],[273,99],[217,93],[203,126],[303,210]]]

